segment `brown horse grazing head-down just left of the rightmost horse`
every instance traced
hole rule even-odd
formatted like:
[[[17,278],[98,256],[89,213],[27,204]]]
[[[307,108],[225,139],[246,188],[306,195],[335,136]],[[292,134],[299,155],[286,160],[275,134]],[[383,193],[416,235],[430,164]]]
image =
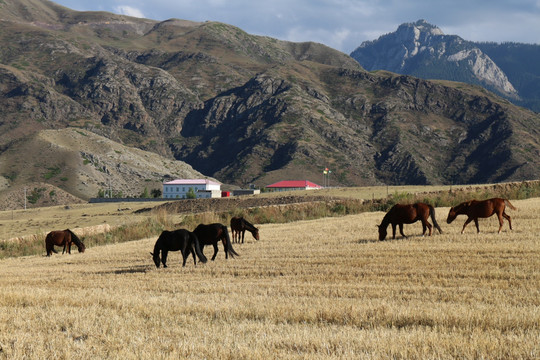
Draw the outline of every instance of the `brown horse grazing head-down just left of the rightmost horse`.
[[[405,236],[403,233],[403,224],[412,224],[420,220],[422,222],[422,236],[426,232],[426,228],[429,229],[429,236],[431,236],[432,226],[428,222],[428,218],[431,215],[431,220],[433,225],[439,233],[442,234],[442,230],[435,220],[435,208],[429,204],[416,203],[412,205],[402,205],[396,204],[386,213],[384,216],[381,225],[379,227],[379,240],[384,240],[386,238],[386,228],[388,224],[392,224],[392,239],[396,238],[396,225],[399,225],[399,232],[401,236]]]

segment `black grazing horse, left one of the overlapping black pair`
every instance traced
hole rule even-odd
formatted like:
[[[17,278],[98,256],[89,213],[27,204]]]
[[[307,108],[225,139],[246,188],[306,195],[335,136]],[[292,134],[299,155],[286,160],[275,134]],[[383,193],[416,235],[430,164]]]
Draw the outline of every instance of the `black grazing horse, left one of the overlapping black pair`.
[[[167,267],[167,254],[169,251],[178,251],[182,253],[182,266],[186,266],[187,258],[189,254],[193,256],[193,262],[197,265],[197,258],[195,254],[199,257],[199,260],[202,263],[207,262],[206,256],[201,252],[199,247],[199,240],[197,236],[186,229],[178,229],[174,231],[164,230],[159,235],[154,245],[154,252],[151,252],[152,258],[154,259],[154,264],[159,268],[160,259],[159,252],[161,251],[161,263],[163,267]]]

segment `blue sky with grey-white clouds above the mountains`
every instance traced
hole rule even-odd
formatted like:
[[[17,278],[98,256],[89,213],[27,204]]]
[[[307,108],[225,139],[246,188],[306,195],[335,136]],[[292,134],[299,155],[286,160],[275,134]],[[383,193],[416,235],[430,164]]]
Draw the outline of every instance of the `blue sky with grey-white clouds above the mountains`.
[[[540,44],[540,0],[54,0],[78,11],[153,20],[219,21],[347,54],[363,41],[424,19],[470,41]]]

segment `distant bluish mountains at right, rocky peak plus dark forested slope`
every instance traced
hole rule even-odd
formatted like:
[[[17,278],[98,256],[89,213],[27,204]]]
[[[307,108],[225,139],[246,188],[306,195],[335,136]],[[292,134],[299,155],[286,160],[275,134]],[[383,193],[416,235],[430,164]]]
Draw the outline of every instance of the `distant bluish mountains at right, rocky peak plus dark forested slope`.
[[[467,41],[425,20],[405,23],[351,56],[366,70],[480,85],[540,112],[540,45]]]

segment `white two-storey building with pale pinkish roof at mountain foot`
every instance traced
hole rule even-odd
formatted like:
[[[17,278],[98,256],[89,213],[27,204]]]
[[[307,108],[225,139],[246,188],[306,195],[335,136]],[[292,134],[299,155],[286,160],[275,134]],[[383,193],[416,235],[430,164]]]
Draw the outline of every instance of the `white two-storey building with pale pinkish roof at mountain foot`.
[[[193,189],[199,198],[221,197],[221,184],[208,179],[176,179],[163,183],[164,199],[187,199]]]

